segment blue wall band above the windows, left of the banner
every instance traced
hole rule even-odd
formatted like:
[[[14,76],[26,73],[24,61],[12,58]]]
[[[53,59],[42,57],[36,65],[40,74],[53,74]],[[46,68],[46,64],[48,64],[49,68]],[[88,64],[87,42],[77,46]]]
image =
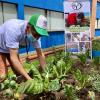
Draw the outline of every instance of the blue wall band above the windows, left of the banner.
[[[63,12],[63,0],[0,0],[0,1]]]

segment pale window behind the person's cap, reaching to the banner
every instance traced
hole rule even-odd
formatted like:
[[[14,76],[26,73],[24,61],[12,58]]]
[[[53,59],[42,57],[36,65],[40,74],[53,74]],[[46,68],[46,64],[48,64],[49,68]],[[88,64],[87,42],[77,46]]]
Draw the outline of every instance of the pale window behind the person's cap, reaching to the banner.
[[[48,31],[62,31],[64,30],[64,14],[61,12],[49,11],[44,9],[26,7],[25,11],[25,20],[29,20],[32,14],[42,14],[47,17]]]

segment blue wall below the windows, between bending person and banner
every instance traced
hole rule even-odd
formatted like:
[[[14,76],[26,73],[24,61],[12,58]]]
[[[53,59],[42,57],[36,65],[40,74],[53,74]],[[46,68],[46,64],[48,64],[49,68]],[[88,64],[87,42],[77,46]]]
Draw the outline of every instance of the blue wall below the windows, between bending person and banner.
[[[41,46],[43,49],[50,48],[53,46],[63,45],[65,43],[64,32],[49,32],[49,37],[41,37]],[[32,45],[29,51],[35,50]],[[25,53],[26,48],[19,50],[19,53]]]

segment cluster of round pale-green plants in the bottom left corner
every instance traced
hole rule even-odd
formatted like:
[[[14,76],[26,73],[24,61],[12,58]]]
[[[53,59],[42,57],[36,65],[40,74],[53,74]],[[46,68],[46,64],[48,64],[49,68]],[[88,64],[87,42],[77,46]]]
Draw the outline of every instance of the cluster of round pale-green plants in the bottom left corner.
[[[8,74],[6,80],[0,83],[0,92],[2,96],[8,99],[13,99],[16,90],[18,89],[18,84],[16,83],[16,75]]]

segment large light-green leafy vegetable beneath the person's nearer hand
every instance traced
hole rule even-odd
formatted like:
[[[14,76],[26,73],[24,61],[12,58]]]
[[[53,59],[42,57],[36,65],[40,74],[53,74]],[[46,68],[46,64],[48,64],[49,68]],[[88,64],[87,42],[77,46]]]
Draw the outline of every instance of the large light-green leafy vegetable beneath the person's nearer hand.
[[[19,85],[17,92],[21,94],[39,94],[43,92],[43,82],[37,79],[28,80]]]

